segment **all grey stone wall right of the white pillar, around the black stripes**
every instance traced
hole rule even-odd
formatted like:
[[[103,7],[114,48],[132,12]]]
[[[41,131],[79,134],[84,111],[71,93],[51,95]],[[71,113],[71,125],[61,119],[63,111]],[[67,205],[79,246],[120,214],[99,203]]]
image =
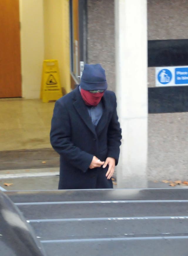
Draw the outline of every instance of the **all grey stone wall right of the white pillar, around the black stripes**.
[[[148,0],[148,40],[187,39],[187,0]],[[155,68],[148,68],[155,86]],[[149,114],[148,178],[188,179],[188,113]]]

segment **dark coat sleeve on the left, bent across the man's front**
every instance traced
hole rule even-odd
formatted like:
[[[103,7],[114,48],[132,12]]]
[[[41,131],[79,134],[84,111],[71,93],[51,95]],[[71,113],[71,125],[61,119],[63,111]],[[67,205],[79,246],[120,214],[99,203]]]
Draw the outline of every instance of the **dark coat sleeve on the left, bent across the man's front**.
[[[56,101],[51,121],[51,145],[66,161],[74,167],[86,172],[92,162],[93,155],[80,150],[71,141],[70,118],[66,108]]]

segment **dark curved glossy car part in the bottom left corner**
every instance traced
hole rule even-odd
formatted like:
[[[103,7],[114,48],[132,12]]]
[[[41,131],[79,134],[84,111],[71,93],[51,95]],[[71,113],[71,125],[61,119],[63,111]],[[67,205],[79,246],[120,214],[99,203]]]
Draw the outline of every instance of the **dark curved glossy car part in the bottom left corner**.
[[[18,207],[0,191],[0,255],[44,256],[36,238]]]

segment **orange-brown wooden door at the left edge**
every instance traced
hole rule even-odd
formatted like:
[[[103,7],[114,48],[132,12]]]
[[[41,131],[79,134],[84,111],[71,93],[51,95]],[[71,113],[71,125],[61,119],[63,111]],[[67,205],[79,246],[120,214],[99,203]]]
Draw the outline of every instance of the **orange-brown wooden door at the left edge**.
[[[21,97],[19,0],[0,0],[0,98]]]

